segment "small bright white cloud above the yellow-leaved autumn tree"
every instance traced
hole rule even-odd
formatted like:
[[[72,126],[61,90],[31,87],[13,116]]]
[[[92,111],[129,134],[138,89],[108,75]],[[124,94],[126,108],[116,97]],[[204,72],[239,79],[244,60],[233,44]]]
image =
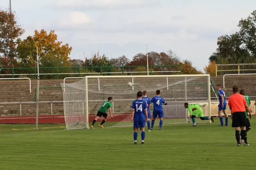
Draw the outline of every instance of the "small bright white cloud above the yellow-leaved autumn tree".
[[[66,16],[64,16],[60,21],[59,24],[61,26],[70,26],[70,27],[76,27],[84,25],[85,23],[90,23],[90,17],[88,17],[83,12],[74,11],[70,12]]]

